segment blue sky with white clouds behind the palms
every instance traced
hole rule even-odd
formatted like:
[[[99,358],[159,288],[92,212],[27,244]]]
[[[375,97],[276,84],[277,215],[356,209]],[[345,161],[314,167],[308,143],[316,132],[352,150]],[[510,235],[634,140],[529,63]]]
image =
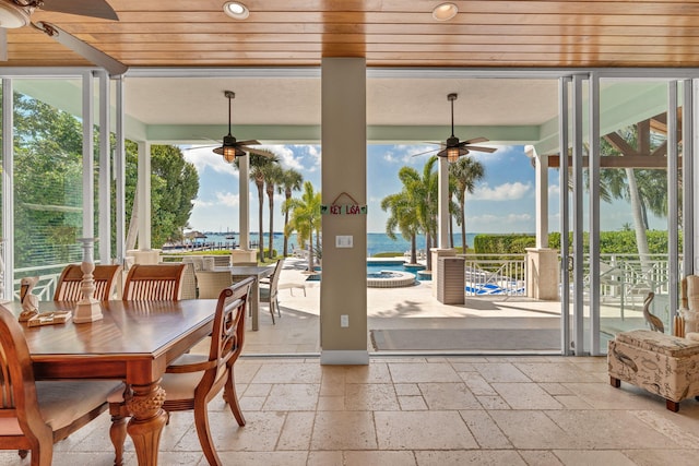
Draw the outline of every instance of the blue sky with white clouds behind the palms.
[[[268,145],[262,146],[277,154],[282,166],[294,168],[321,190],[320,146],[318,145]],[[387,213],[381,211],[381,200],[401,191],[398,171],[411,166],[422,172],[428,155],[413,157],[434,148],[434,145],[369,145],[367,147],[367,229],[369,232],[386,230]],[[524,154],[523,146],[500,146],[493,154],[470,154],[485,167],[485,178],[473,194],[466,198],[466,232],[534,232],[535,182],[534,168]],[[190,226],[201,231],[238,231],[238,183],[237,169],[226,164],[211,147],[185,151],[187,160],[194,164],[200,177],[199,195],[190,218]],[[559,229],[559,187],[557,170],[549,170],[549,230]],[[250,191],[250,216],[256,229],[258,222],[257,188],[248,183]],[[283,228],[281,205],[283,195],[277,194],[274,206],[274,230]],[[264,200],[264,225],[266,228],[268,200]],[[603,230],[618,230],[625,223],[632,223],[628,206],[623,202],[602,203],[601,225]],[[653,219],[652,227],[665,229],[665,224]]]

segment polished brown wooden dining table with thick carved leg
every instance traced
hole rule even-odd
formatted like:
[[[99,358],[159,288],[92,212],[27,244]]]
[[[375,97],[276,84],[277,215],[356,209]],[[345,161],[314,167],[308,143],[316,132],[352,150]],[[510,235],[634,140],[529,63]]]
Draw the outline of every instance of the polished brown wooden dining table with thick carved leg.
[[[3,304],[15,315],[19,302]],[[104,318],[76,324],[28,327],[22,324],[37,380],[115,379],[131,385],[127,431],[139,465],[157,465],[167,414],[159,386],[165,368],[206,337],[213,327],[215,299],[182,301],[105,301]],[[40,312],[74,311],[75,302],[39,303]]]

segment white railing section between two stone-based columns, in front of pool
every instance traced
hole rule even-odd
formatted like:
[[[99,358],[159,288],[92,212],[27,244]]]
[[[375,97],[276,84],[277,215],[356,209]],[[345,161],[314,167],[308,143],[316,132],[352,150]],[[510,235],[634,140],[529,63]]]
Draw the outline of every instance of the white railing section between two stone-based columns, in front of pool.
[[[462,254],[466,296],[524,296],[525,254]]]

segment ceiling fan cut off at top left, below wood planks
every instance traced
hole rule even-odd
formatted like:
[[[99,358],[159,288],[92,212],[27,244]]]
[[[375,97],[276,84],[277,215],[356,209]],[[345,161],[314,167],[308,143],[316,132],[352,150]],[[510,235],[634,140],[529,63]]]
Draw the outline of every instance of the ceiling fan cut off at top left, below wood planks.
[[[32,25],[86,60],[103,67],[111,75],[123,74],[127,71],[123,63],[60,27],[47,22],[33,23],[32,14],[36,10],[119,21],[119,16],[106,0],[0,0],[0,32],[2,33],[0,34],[0,50],[3,53],[0,57],[1,60],[7,60],[5,29]]]

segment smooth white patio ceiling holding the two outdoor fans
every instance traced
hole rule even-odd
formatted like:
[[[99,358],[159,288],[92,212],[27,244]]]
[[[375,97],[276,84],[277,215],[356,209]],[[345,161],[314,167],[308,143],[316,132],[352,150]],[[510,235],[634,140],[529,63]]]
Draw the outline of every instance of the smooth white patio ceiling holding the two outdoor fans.
[[[320,76],[130,77],[127,112],[145,124],[320,124]],[[541,124],[557,115],[556,80],[369,77],[368,126]]]

